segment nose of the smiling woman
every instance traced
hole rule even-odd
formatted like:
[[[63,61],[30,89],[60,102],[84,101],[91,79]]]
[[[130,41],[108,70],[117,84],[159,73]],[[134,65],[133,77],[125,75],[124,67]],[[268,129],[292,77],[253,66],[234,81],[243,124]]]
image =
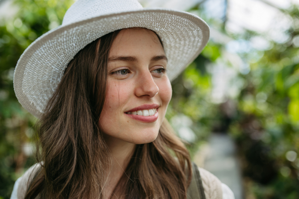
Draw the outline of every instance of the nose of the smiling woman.
[[[137,97],[148,96],[149,98],[153,98],[159,92],[159,88],[152,79],[149,71],[139,74],[135,88],[135,95]]]

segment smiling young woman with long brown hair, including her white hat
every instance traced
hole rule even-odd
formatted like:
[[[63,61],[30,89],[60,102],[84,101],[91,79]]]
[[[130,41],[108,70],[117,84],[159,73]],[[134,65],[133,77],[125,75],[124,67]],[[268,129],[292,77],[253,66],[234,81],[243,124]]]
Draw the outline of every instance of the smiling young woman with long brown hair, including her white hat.
[[[207,39],[208,26],[186,12],[76,1],[15,70],[17,97],[40,120],[38,164],[11,198],[233,199],[191,164],[164,118],[170,80]]]

